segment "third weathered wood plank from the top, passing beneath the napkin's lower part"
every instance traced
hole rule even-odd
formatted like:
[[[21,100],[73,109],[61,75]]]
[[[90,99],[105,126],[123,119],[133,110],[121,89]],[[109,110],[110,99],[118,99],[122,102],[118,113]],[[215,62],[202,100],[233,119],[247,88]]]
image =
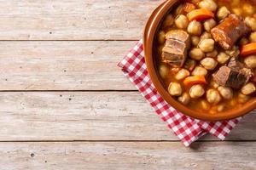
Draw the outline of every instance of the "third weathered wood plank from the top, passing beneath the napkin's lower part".
[[[255,113],[229,139],[256,140]],[[203,140],[217,140],[207,138]],[[177,140],[137,92],[0,93],[0,141]]]

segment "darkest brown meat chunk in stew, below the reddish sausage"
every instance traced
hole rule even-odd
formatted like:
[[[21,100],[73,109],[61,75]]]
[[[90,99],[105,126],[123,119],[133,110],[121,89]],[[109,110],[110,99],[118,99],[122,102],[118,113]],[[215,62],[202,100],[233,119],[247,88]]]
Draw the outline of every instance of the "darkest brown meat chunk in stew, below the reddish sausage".
[[[220,67],[213,75],[219,85],[230,88],[241,88],[251,77],[253,72],[235,58],[230,59],[228,66]]]

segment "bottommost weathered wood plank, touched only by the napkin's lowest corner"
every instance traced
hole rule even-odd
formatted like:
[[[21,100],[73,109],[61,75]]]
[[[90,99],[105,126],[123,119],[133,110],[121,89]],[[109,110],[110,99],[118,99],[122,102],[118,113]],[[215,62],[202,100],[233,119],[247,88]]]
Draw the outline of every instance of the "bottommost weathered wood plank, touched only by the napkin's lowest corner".
[[[11,169],[253,170],[256,142],[0,143],[0,166]],[[221,162],[221,163],[220,163]]]

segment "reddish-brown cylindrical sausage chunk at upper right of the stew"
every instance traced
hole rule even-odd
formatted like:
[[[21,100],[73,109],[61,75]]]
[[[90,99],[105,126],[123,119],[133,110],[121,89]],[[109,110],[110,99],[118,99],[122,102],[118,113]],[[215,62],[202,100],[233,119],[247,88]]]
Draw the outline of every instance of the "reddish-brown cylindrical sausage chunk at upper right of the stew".
[[[237,40],[246,35],[250,29],[241,16],[230,14],[218,26],[212,28],[212,37],[220,46],[226,50],[232,48]]]

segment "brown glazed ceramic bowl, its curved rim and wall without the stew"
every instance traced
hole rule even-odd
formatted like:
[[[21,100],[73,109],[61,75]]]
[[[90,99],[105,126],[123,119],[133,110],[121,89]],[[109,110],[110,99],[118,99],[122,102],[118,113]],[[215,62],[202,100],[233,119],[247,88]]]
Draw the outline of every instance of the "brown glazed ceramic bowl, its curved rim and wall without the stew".
[[[229,110],[224,112],[219,112],[216,114],[210,113],[199,113],[197,111],[193,111],[184,105],[181,105],[172,96],[167,92],[166,88],[164,88],[161,83],[160,75],[156,69],[156,59],[154,56],[154,37],[156,32],[160,27],[160,23],[164,19],[165,15],[172,11],[173,8],[177,7],[177,3],[180,3],[179,0],[167,0],[165,3],[160,4],[158,8],[154,10],[148,19],[147,25],[144,31],[143,37],[143,47],[145,53],[146,65],[148,67],[148,73],[151,77],[152,82],[154,83],[154,87],[160,93],[160,95],[172,105],[177,111],[181,111],[184,115],[195,117],[197,119],[205,120],[205,121],[221,121],[236,118],[239,116],[244,116],[253,109],[256,108],[256,99],[253,98],[248,101],[241,108],[236,108],[236,110]]]

